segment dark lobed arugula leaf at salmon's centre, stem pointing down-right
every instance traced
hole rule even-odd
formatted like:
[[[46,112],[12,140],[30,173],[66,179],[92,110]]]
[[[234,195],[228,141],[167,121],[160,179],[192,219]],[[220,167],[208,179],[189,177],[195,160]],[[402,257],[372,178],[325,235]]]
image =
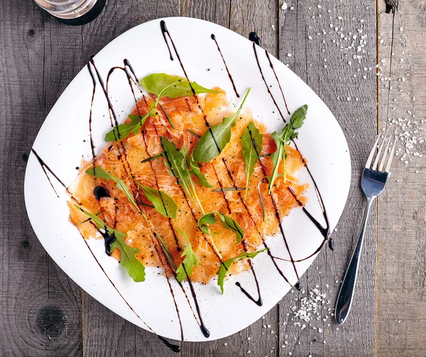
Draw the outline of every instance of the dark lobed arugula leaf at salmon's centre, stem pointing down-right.
[[[204,214],[204,209],[202,208],[200,199],[197,197],[197,192],[195,192],[195,185],[192,181],[190,170],[187,167],[187,155],[188,151],[185,148],[185,145],[178,150],[175,144],[169,141],[163,136],[160,137],[161,146],[164,150],[164,163],[168,167],[168,173],[170,176],[174,176],[178,179],[178,184],[183,187],[185,192],[187,192],[192,202],[198,202],[201,211]]]

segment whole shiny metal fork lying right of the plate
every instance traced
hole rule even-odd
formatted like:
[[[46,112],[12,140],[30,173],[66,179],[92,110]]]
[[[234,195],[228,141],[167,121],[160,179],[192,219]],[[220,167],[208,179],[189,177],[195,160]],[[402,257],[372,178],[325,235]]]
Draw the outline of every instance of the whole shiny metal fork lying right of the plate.
[[[386,144],[386,149],[384,150],[383,157],[381,158],[381,153],[383,146],[386,142],[386,136],[383,138],[383,141],[378,148],[378,152],[376,158],[373,162],[374,153],[376,153],[377,144],[380,136],[377,137],[376,142],[373,145],[373,149],[371,150],[370,155],[368,156],[368,160],[366,163],[366,167],[362,172],[361,177],[361,188],[364,191],[367,199],[367,208],[364,214],[364,222],[361,226],[361,232],[359,233],[358,243],[356,243],[356,247],[354,253],[351,258],[351,262],[349,263],[348,269],[346,270],[346,274],[344,275],[344,280],[342,282],[342,286],[340,287],[339,296],[337,297],[336,303],[336,311],[335,317],[336,322],[338,324],[343,324],[346,318],[349,315],[349,310],[351,309],[352,298],[354,297],[355,283],[356,283],[356,275],[358,275],[358,267],[359,267],[359,257],[361,256],[362,251],[362,243],[364,241],[364,234],[366,231],[368,214],[370,213],[371,204],[373,204],[374,199],[383,192],[385,188],[386,180],[388,179],[389,170],[391,169],[391,163],[393,154],[395,152],[395,142],[393,143],[391,155],[388,158],[386,163],[386,154],[389,150],[389,144],[391,143],[391,136],[388,138],[388,143]],[[373,165],[371,166],[371,163]],[[384,167],[384,170],[383,170]]]

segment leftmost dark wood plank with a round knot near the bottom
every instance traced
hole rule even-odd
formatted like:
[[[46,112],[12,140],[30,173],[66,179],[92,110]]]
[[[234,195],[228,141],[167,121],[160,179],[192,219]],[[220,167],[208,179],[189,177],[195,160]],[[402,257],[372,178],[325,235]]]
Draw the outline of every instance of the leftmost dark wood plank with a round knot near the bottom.
[[[77,31],[51,26],[32,1],[0,4],[2,356],[82,354],[80,290],[40,245],[23,202],[35,135],[75,75],[75,53],[55,43],[65,35],[80,38]]]

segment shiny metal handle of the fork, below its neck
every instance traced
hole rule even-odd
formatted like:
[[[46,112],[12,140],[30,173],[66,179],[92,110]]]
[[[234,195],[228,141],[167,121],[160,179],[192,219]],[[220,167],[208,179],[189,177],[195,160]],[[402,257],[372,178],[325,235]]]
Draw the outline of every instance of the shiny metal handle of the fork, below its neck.
[[[343,324],[345,322],[349,315],[349,310],[351,309],[352,298],[354,297],[355,291],[356,276],[358,275],[359,257],[361,256],[362,245],[364,242],[368,214],[370,213],[371,204],[373,203],[374,198],[376,197],[367,198],[367,207],[364,214],[364,222],[361,227],[361,232],[359,233],[358,243],[356,243],[351,262],[349,263],[348,269],[346,270],[342,286],[340,287],[339,296],[337,297],[335,311],[337,324]]]

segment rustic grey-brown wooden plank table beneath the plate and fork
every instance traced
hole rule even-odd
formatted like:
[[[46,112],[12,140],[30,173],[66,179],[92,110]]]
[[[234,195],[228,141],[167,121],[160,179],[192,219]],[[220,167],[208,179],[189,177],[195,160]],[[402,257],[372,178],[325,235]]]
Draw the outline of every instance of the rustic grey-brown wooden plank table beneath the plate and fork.
[[[332,109],[352,157],[351,192],[333,232],[335,250],[324,248],[302,277],[302,291],[289,293],[264,319],[234,336],[181,342],[180,355],[426,355],[426,165],[419,156],[426,145],[412,140],[425,131],[425,1],[285,5],[283,0],[109,0],[95,21],[71,27],[31,0],[0,1],[2,356],[176,356],[67,278],[40,246],[23,202],[31,144],[71,79],[116,36],[164,16],[203,18],[244,36],[257,31],[263,46]],[[379,128],[401,131],[398,123],[406,126],[402,131],[414,148],[394,160],[390,184],[373,209],[349,321],[338,326],[332,317],[314,319],[302,329],[294,324],[299,320],[292,307],[297,310],[310,290],[326,293],[327,308],[334,307],[364,208],[361,167]],[[400,148],[403,153],[404,145]]]

